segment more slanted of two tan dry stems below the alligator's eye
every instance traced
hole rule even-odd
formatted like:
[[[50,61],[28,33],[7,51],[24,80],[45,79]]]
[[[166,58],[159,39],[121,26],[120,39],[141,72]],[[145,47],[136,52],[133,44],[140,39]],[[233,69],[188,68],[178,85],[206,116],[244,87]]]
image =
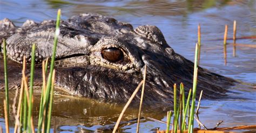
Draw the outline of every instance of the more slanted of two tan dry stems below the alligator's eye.
[[[117,128],[118,128],[118,125],[124,115],[124,112],[126,111],[126,109],[128,108],[128,106],[131,104],[132,102],[132,99],[135,97],[135,95],[137,94],[137,92],[139,91],[139,88],[142,86],[143,84],[143,80],[139,83],[139,85],[137,86],[137,88],[134,90],[134,92],[132,93],[130,99],[126,102],[122,112],[120,113],[119,117],[118,117],[118,120],[116,122],[116,125],[114,125],[114,129],[113,129],[113,133],[116,133],[117,131]]]

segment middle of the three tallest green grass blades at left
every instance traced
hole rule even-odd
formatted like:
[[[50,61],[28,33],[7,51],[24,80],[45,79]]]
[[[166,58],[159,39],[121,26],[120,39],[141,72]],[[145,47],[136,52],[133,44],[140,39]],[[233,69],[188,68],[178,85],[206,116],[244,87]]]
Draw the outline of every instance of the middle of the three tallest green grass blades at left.
[[[35,50],[36,50],[36,45],[32,45],[32,51],[31,51],[31,67],[30,67],[30,89],[29,89],[29,110],[28,110],[28,120],[31,120],[32,116],[32,109],[33,109],[33,104],[32,104],[32,97],[33,97],[33,78],[34,78],[34,71],[35,71]],[[28,131],[31,132],[31,122],[28,122]]]

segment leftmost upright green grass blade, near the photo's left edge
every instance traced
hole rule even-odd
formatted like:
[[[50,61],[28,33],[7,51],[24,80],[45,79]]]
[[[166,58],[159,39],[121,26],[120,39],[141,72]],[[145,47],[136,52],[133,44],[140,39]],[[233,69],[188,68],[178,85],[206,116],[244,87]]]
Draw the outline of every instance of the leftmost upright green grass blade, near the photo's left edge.
[[[6,55],[6,42],[5,42],[5,39],[3,40],[3,50],[4,50],[5,102],[6,102],[7,117],[8,117],[8,120],[9,120],[9,87],[8,87],[8,70],[7,70],[7,55]]]

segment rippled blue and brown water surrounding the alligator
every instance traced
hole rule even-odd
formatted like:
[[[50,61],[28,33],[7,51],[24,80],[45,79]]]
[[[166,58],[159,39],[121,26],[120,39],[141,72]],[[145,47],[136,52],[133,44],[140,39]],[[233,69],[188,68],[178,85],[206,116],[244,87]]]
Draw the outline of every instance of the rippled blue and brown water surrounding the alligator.
[[[228,24],[228,37],[232,38],[233,20],[237,20],[237,36],[256,34],[256,2],[251,1],[0,1],[0,19],[9,18],[21,26],[26,19],[37,22],[55,19],[57,9],[62,9],[62,19],[84,12],[101,13],[119,21],[139,25],[156,25],[167,43],[179,54],[193,61],[197,41],[197,25],[201,24],[200,65],[221,75],[238,79],[244,84],[228,93],[234,99],[201,101],[200,120],[212,128],[220,120],[220,127],[256,123],[256,49],[237,47],[232,57],[232,46],[227,47],[227,65],[223,60],[224,26]],[[232,42],[232,40],[228,40]],[[256,39],[238,40],[237,43],[255,44]],[[1,62],[2,65],[2,62]],[[248,85],[251,84],[251,85]],[[254,86],[254,87],[253,87]],[[0,93],[0,101],[4,94]],[[39,95],[37,95],[39,98]],[[36,99],[36,104],[39,103]],[[4,127],[3,106],[0,102],[0,125]],[[55,96],[53,122],[57,131],[108,131],[116,122],[123,105],[106,104],[88,99]],[[137,117],[137,108],[130,108],[124,121]],[[34,114],[38,113],[38,108]],[[144,108],[144,117],[166,120],[165,113]],[[134,121],[124,124],[125,132],[136,131]],[[149,132],[166,125],[144,119],[140,131]],[[109,131],[111,132],[111,131]]]

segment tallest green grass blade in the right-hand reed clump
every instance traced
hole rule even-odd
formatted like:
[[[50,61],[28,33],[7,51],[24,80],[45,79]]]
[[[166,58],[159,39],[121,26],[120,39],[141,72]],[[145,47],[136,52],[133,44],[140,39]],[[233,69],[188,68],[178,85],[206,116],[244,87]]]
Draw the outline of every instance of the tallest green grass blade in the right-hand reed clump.
[[[197,60],[198,60],[198,43],[196,44],[196,50],[195,50],[195,54],[194,54],[193,93],[192,93],[190,120],[188,122],[188,132],[193,132],[194,108],[195,108],[196,94],[197,94],[197,74],[198,74],[198,61]]]

